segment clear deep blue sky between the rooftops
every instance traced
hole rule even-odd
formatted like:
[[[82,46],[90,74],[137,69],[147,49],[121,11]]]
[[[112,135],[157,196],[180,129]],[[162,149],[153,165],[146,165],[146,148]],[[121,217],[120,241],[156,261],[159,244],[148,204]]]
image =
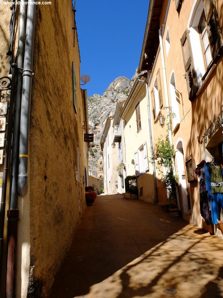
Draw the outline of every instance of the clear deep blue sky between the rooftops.
[[[81,75],[88,96],[103,94],[120,76],[131,79],[142,50],[149,0],[76,0]]]

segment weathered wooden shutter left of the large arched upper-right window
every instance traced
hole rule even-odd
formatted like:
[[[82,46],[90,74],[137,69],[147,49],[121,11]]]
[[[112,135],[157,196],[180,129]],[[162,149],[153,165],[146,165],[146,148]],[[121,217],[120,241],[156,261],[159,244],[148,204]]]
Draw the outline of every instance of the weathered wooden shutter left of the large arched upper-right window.
[[[181,45],[183,51],[183,61],[189,100],[192,101],[196,97],[198,86],[188,29],[186,29],[186,31],[183,33],[183,36],[181,38]]]

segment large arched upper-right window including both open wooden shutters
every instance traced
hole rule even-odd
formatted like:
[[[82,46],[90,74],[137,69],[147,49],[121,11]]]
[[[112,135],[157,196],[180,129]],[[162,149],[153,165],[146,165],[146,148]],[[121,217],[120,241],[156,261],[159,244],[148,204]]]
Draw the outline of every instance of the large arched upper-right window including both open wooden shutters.
[[[195,0],[181,45],[189,100],[194,100],[212,65],[222,56],[222,33],[215,1]]]

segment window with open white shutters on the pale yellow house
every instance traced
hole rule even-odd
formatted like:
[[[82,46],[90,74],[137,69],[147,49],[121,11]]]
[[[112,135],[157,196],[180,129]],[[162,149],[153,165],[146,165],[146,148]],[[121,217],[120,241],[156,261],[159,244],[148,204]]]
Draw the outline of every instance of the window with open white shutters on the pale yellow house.
[[[146,142],[135,151],[135,172],[136,176],[149,170]]]

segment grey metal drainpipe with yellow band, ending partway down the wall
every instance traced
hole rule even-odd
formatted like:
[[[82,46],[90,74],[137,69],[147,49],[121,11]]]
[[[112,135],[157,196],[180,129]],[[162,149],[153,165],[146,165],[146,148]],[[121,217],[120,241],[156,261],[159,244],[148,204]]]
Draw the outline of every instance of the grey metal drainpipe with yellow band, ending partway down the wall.
[[[18,193],[21,197],[28,190],[28,157],[29,157],[29,124],[32,89],[32,63],[34,49],[36,4],[28,4],[26,24],[26,45],[23,66],[23,94],[21,104],[20,140],[19,140],[19,167]]]

